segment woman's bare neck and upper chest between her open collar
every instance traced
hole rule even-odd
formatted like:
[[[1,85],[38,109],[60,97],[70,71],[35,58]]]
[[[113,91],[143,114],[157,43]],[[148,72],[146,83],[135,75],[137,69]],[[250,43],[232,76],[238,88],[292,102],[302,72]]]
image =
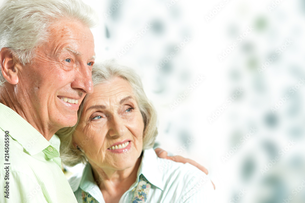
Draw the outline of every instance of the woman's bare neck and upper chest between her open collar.
[[[135,183],[141,160],[142,156],[134,166],[124,170],[99,168],[91,164],[95,182],[102,191],[106,203],[119,202],[122,195]]]

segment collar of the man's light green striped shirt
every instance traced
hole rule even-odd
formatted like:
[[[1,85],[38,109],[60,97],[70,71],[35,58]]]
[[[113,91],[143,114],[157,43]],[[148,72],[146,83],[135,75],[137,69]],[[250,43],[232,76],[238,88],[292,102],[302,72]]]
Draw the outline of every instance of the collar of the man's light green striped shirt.
[[[0,103],[0,128],[9,131],[9,135],[31,156],[43,151],[50,159],[59,157],[60,140],[56,135],[48,142],[30,123],[2,103]]]

